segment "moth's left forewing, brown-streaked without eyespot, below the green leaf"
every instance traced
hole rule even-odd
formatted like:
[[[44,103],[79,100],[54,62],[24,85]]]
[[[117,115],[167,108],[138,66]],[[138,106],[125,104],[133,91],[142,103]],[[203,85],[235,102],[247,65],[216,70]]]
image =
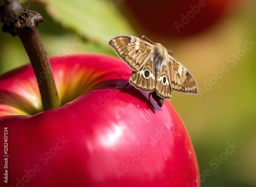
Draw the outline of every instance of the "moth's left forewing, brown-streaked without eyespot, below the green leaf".
[[[130,35],[117,35],[109,41],[109,44],[134,71],[141,69],[154,50],[152,44]]]

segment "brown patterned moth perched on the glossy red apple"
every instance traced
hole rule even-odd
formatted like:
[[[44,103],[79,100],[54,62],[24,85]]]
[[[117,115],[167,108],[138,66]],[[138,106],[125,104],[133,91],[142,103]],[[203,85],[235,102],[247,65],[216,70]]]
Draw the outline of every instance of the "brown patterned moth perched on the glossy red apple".
[[[172,89],[182,93],[197,93],[193,76],[160,43],[151,44],[131,35],[116,35],[109,44],[133,69],[129,83],[140,90],[149,91],[149,101],[152,95],[161,107],[164,99],[172,96]]]

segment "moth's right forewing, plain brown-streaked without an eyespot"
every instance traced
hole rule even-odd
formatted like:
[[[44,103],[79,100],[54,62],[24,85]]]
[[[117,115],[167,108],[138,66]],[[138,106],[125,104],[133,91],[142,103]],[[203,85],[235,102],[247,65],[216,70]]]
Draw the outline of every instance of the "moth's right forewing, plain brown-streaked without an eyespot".
[[[173,90],[182,93],[197,93],[197,84],[189,71],[175,58],[168,55],[170,70],[170,86]]]

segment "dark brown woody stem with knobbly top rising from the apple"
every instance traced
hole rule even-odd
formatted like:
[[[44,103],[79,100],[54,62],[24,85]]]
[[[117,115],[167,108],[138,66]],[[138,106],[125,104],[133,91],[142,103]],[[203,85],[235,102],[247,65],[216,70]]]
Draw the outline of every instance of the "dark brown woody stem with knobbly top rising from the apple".
[[[2,20],[5,21],[3,32],[10,33],[12,36],[18,36],[22,41],[34,69],[41,94],[42,108],[46,111],[59,107],[61,103],[55,86],[52,69],[37,30],[38,23],[44,21],[44,18],[35,11],[21,9],[21,5],[16,0],[7,0],[5,2],[9,2],[9,4],[3,6],[5,7],[5,12],[7,12],[6,15],[11,16],[1,15]],[[13,5],[10,6],[10,3]],[[15,7],[15,10],[8,8],[8,6]],[[1,9],[2,7],[0,11],[2,11]],[[15,11],[15,13],[10,13],[8,10]]]

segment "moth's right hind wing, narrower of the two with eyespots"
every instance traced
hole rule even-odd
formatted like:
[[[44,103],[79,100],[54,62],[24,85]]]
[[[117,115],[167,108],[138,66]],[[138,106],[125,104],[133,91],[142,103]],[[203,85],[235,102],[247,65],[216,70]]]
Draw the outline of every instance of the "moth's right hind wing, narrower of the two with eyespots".
[[[167,63],[167,61],[163,62],[156,81],[157,95],[164,99],[170,99],[172,96],[172,89],[170,86],[170,72]]]

